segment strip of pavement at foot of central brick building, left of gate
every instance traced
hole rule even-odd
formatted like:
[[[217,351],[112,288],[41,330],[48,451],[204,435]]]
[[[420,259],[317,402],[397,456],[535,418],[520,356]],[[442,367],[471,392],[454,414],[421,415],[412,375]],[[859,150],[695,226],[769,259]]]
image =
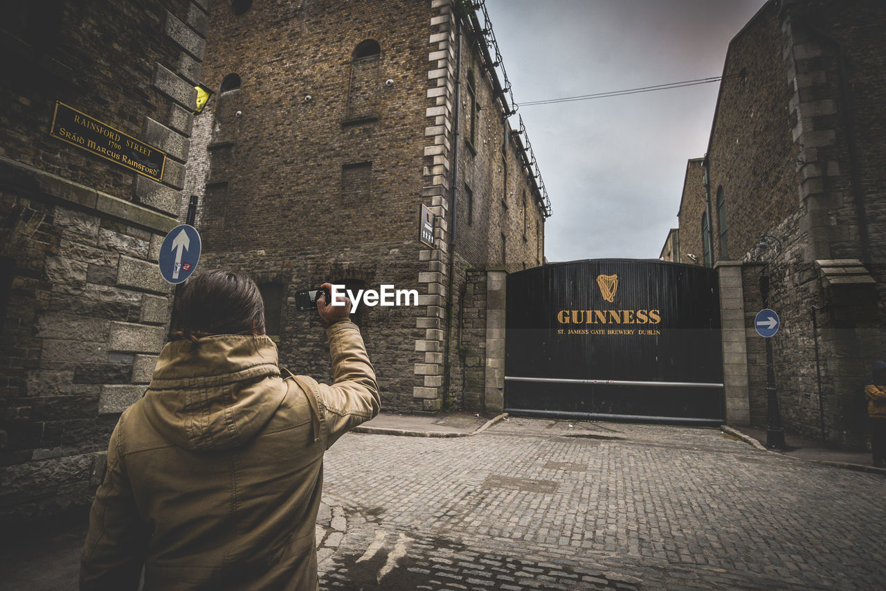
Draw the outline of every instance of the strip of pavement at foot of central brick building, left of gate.
[[[508,414],[400,414],[379,413],[371,421],[354,428],[354,433],[402,435],[408,437],[468,437],[482,433]]]

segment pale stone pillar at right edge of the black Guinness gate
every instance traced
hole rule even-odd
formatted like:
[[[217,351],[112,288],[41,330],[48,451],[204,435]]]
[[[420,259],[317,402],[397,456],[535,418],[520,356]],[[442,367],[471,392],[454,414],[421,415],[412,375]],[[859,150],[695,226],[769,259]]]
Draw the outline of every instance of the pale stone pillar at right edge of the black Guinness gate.
[[[744,330],[742,262],[718,261],[720,327],[723,343],[723,393],[726,422],[750,425],[748,351]]]

